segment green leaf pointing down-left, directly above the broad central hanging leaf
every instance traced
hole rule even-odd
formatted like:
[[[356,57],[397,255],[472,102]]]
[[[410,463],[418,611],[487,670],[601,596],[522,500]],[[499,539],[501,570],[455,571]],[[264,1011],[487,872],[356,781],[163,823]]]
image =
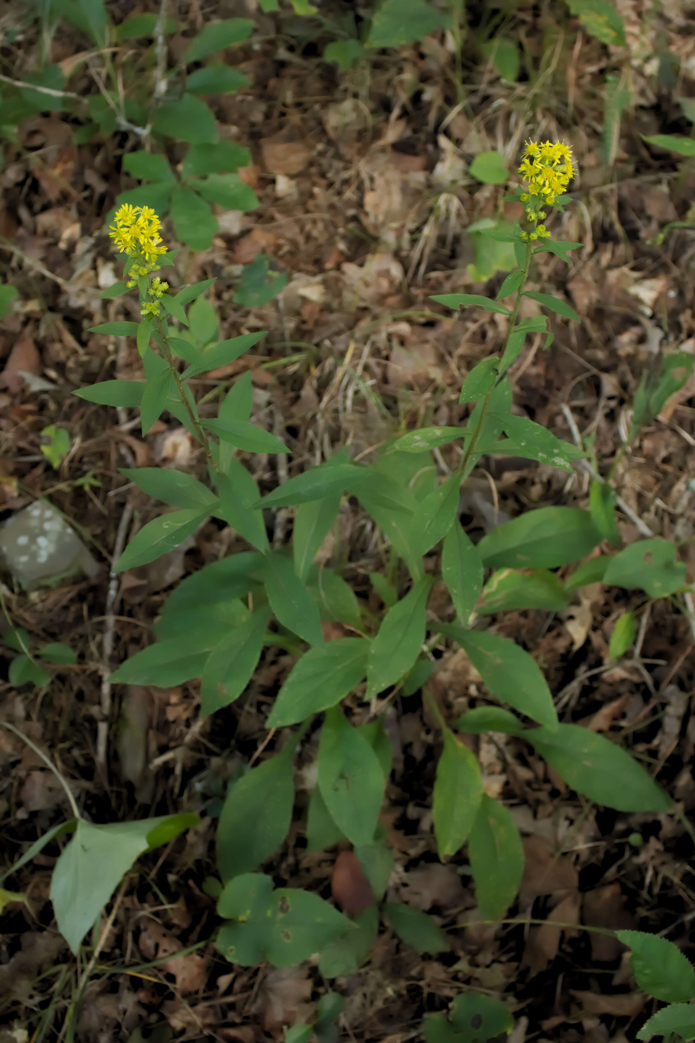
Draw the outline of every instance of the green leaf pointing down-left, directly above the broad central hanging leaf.
[[[309,649],[278,692],[266,727],[298,724],[336,706],[364,681],[368,651],[364,637],[339,637]]]

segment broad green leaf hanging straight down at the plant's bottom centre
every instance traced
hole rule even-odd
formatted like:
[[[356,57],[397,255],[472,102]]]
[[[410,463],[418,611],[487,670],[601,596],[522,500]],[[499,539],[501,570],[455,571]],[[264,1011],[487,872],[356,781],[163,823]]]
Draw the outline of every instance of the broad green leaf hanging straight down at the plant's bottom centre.
[[[378,757],[368,739],[348,724],[339,707],[329,709],[319,743],[319,791],[331,819],[350,843],[372,843],[384,785]]]

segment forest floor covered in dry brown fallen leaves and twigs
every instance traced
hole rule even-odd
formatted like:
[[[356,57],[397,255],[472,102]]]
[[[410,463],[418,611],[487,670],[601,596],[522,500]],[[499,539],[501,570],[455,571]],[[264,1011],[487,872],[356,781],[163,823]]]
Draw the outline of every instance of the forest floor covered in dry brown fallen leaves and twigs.
[[[178,5],[183,27],[199,18],[190,6]],[[243,4],[220,6],[210,17],[244,13]],[[622,48],[599,44],[568,20],[564,4],[518,5],[505,31],[522,41],[535,69],[518,83],[502,80],[480,57],[466,58],[463,84],[456,82],[444,33],[377,52],[349,72],[323,62],[315,43],[293,38],[287,27],[269,31],[275,23],[268,19],[259,42],[235,51],[234,64],[251,86],[214,99],[214,108],[223,137],[251,150],[244,177],[260,207],[220,212],[212,247],[182,251],[175,280],[217,276],[209,299],[222,337],[269,331],[251,353],[206,374],[199,390],[227,386],[250,367],[254,419],[282,432],[292,474],[345,444],[358,458],[394,433],[461,421],[462,379],[499,343],[499,316],[445,314],[429,297],[458,290],[494,295],[502,276],[474,281],[467,226],[518,216],[515,204],[501,202],[503,186],[467,173],[481,151],[498,149],[514,170],[525,139],[566,139],[578,166],[576,202],[554,218],[553,234],[584,245],[569,266],[544,254],[538,286],[566,294],[581,323],[553,321],[549,350],[533,342],[526,347],[512,370],[520,412],[568,440],[575,431],[592,434],[605,469],[644,369],[660,350],[695,354],[695,236],[681,228],[661,243],[656,238],[669,222],[687,218],[695,171],[692,161],[650,148],[642,138],[690,134],[678,99],[695,97],[695,11],[665,2],[653,15],[647,0],[618,6],[627,30]],[[561,11],[553,14],[555,7]],[[134,9],[109,5],[116,21]],[[83,46],[76,38],[58,33],[53,59],[70,59]],[[172,53],[180,45],[179,35],[172,38]],[[15,75],[22,73],[16,53]],[[618,129],[606,124],[606,74],[631,83],[632,103]],[[307,1019],[328,988],[316,966],[231,967],[210,944],[153,970],[128,968],[215,930],[215,901],[203,890],[215,871],[214,815],[225,780],[264,744],[265,710],[290,657],[268,653],[243,699],[202,726],[196,683],[115,685],[106,762],[97,756],[107,668],[149,641],[178,579],[242,545],[210,523],[183,548],[125,574],[110,633],[108,566],[124,506],[131,504],[131,525],[157,510],[119,468],[134,459],[140,466],[204,472],[172,418],[157,421],[143,439],[135,411],[119,417],[72,395],[97,380],[140,372],[134,343],[118,346],[115,338],[88,332],[132,317],[126,298],[104,301],[98,291],[120,274],[104,217],[117,194],[134,184],[121,171],[123,154],[134,147],[127,131],[75,145],[64,114],[52,112],[25,124],[20,142],[4,150],[0,263],[20,297],[0,329],[0,511],[7,517],[48,498],[79,528],[99,571],[29,596],[5,587],[14,625],[25,627],[36,645],[68,644],[77,662],[56,670],[45,688],[15,688],[7,680],[11,653],[0,647],[0,718],[47,752],[94,822],[182,809],[202,817],[198,827],[142,858],[119,889],[74,1039],[256,1043],[280,1039],[283,1025]],[[260,252],[287,272],[287,287],[260,308],[240,309],[231,299],[240,266]],[[691,381],[619,469],[618,491],[642,526],[623,517],[626,541],[646,530],[670,539],[693,535],[694,397]],[[57,470],[41,452],[47,425],[70,435]],[[274,458],[253,460],[264,491],[274,487]],[[588,478],[579,469],[567,476],[528,461],[490,459],[465,487],[462,519],[477,538],[527,507],[587,501]],[[381,566],[380,541],[356,507],[346,511],[341,535],[336,553],[345,575],[369,599],[369,573]],[[693,558],[689,572],[695,578]],[[494,625],[542,665],[565,720],[590,721],[617,741],[629,735],[634,752],[649,759],[689,812],[695,805],[694,631],[670,602],[660,601],[634,654],[611,663],[610,633],[629,603],[628,593],[597,584],[564,612],[510,611]],[[466,656],[454,653],[429,683],[453,719],[475,694],[476,680]],[[389,893],[433,914],[452,949],[419,956],[382,928],[359,973],[332,984],[346,998],[345,1036],[361,1043],[416,1038],[425,1013],[475,989],[508,1000],[513,1043],[634,1038],[647,1000],[630,984],[621,946],[582,928],[664,931],[688,952],[693,848],[680,822],[591,806],[564,791],[540,761],[517,754],[514,743],[500,750],[481,736],[476,749],[483,770],[513,798],[525,838],[527,870],[510,916],[528,919],[522,926],[485,925],[465,860],[437,859],[429,794],[438,737],[420,696],[396,700],[387,727],[394,772],[382,822],[396,856]],[[311,755],[307,749],[299,769],[297,829],[271,871],[290,886],[328,895],[337,850],[306,854],[293,843]],[[7,868],[70,809],[52,773],[1,728],[0,766],[0,851]],[[8,906],[0,920],[2,1043],[36,1039],[41,1012],[50,1004],[46,1038],[56,1039],[84,971],[52,919],[55,854],[55,846],[47,848],[8,883],[28,902]]]

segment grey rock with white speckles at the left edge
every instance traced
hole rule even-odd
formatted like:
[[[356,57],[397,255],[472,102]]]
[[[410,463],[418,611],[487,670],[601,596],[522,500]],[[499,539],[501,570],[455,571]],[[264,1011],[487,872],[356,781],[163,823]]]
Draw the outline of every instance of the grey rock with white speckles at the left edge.
[[[25,590],[99,572],[75,530],[46,500],[0,526],[0,562]]]

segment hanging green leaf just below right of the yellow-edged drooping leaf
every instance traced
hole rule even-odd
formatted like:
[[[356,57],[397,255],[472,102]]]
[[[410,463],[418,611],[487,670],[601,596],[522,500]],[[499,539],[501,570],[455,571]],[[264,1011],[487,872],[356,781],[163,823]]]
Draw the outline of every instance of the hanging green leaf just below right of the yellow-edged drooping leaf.
[[[488,920],[501,919],[517,897],[524,872],[524,849],[512,815],[482,795],[468,839],[475,900]]]

